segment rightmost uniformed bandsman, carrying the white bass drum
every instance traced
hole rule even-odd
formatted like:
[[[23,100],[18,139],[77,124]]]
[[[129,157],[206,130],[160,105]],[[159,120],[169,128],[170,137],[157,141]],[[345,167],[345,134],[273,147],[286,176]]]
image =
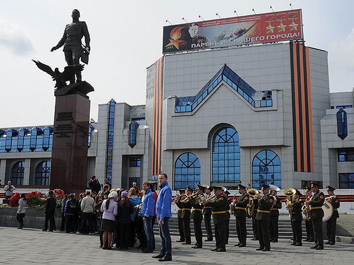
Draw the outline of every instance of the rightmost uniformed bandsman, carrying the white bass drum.
[[[330,219],[326,221],[326,227],[327,227],[327,238],[328,241],[326,244],[328,245],[334,245],[336,243],[336,225],[337,225],[337,218],[339,217],[338,214],[338,208],[339,208],[339,199],[336,195],[334,195],[333,191],[335,191],[335,188],[332,188],[330,185],[326,186],[327,188],[327,193],[330,195],[328,201],[330,204],[333,206],[333,213]]]

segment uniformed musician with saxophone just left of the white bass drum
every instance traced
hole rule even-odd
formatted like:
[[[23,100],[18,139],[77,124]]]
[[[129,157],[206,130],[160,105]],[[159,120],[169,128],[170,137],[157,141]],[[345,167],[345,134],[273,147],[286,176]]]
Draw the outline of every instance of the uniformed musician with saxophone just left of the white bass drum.
[[[318,184],[315,182],[312,182],[311,189],[314,195],[312,196],[312,200],[307,201],[306,204],[311,206],[311,222],[315,245],[310,248],[323,249],[322,218],[324,213],[322,205],[325,201],[325,195],[318,189]]]

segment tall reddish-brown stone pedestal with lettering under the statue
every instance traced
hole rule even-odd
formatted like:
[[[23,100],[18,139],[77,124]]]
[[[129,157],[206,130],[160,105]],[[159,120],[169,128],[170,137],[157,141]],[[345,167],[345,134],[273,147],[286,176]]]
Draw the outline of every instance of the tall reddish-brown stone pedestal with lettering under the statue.
[[[50,188],[79,193],[87,186],[90,100],[83,94],[56,95]]]

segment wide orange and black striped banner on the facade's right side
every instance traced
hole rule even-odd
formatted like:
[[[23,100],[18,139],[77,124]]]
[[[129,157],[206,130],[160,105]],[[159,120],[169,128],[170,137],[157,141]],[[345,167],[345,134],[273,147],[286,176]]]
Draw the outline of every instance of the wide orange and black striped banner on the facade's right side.
[[[290,42],[294,170],[313,172],[309,48]]]

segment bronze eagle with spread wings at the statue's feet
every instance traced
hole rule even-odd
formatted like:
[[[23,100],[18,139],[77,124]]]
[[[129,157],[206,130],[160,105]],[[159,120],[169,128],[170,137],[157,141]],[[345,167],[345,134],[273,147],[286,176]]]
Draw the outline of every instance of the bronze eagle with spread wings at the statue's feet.
[[[43,64],[40,61],[32,61],[34,61],[34,63],[38,66],[39,69],[52,76],[53,81],[56,81],[56,84],[54,86],[56,89],[66,87],[67,81],[70,81],[70,84],[73,80],[75,82],[75,74],[84,70],[84,65],[79,64],[65,66],[63,72],[59,72],[58,67],[56,67],[53,71],[50,66]]]

